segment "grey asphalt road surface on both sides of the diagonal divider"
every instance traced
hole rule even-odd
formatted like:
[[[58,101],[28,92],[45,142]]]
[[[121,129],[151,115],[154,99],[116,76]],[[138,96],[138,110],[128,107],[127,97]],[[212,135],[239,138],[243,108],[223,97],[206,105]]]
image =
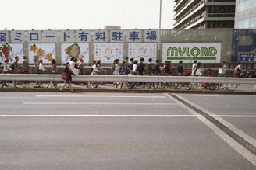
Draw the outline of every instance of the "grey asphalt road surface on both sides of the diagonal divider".
[[[256,95],[180,94],[256,146]],[[0,169],[256,169],[168,94],[0,92]]]

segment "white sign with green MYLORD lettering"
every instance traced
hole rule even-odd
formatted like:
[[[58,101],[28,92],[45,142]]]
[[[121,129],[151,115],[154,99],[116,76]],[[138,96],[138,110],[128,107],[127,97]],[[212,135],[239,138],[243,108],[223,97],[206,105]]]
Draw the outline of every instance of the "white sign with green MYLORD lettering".
[[[163,43],[162,61],[220,63],[221,43]]]

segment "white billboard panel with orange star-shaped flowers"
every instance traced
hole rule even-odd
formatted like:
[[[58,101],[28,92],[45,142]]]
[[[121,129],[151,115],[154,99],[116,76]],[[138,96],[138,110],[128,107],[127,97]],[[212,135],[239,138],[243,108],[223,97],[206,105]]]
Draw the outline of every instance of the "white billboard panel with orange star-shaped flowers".
[[[56,60],[55,43],[30,43],[29,57],[30,63],[37,63],[43,60],[44,63],[51,63],[52,59]]]

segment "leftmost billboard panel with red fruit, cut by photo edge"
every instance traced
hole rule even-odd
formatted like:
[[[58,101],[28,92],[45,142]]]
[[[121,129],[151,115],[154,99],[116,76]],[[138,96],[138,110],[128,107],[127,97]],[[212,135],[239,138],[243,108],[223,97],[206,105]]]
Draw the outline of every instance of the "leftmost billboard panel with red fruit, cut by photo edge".
[[[14,62],[14,58],[20,58],[19,63],[23,60],[23,43],[2,43],[0,44],[0,61],[5,62],[9,60],[10,63]]]

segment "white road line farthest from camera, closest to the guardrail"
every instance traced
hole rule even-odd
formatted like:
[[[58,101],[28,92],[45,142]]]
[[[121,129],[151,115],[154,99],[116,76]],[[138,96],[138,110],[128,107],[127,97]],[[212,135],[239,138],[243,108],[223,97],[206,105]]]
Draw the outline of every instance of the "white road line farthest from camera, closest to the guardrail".
[[[157,99],[165,99],[166,96],[137,96],[137,95],[36,95],[36,97],[58,97],[58,98],[157,98]]]

